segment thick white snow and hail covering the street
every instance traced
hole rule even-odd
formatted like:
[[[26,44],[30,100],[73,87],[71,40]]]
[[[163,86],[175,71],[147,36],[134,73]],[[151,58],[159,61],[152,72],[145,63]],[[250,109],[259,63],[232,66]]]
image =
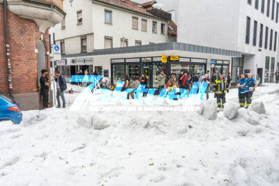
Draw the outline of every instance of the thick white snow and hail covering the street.
[[[223,112],[80,114],[70,105],[82,88],[73,89],[67,109],[0,123],[0,185],[279,185],[278,84],[255,92],[266,114],[239,109],[232,121]],[[227,100],[238,102],[236,89]]]

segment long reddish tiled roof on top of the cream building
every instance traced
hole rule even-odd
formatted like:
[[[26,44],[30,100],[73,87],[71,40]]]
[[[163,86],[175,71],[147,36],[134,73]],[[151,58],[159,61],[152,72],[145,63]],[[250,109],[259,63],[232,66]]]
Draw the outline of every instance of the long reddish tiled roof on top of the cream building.
[[[132,10],[135,11],[137,13],[142,13],[144,15],[149,15],[154,17],[151,13],[148,13],[146,11],[145,8],[143,8],[140,3],[136,3],[134,1],[130,1],[130,0],[125,0],[125,1],[121,1],[121,0],[94,0],[94,1],[99,1],[101,3],[107,3],[110,4],[112,6],[118,6],[119,8],[124,8],[126,10]]]

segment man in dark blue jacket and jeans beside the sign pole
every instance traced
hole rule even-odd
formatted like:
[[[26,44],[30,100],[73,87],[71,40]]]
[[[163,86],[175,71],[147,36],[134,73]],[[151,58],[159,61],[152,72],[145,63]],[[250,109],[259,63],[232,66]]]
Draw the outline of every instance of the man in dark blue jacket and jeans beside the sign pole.
[[[67,90],[67,83],[66,79],[60,74],[59,71],[55,71],[54,80],[57,83],[56,85],[56,99],[57,99],[57,108],[61,107],[60,97],[63,102],[63,108],[66,108],[66,100],[64,96],[64,91]]]

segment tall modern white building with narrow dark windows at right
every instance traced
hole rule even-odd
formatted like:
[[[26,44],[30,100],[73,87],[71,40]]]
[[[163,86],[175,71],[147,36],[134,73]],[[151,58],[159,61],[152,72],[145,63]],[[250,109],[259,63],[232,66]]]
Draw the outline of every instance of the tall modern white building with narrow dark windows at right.
[[[138,0],[140,1],[140,0]],[[158,0],[163,6],[169,1]],[[239,72],[273,81],[278,61],[278,0],[175,0],[177,42],[241,52],[232,60],[232,77]],[[222,72],[219,67],[213,71]]]

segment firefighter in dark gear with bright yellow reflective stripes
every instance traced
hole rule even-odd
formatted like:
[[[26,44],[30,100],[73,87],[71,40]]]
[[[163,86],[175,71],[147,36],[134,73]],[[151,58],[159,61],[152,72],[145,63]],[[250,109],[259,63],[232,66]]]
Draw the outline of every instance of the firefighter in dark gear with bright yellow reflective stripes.
[[[216,79],[216,81],[213,82],[213,91],[216,95],[214,97],[217,98],[218,108],[224,107],[226,102],[226,93],[229,91],[229,86],[223,75],[220,75],[219,79]]]

